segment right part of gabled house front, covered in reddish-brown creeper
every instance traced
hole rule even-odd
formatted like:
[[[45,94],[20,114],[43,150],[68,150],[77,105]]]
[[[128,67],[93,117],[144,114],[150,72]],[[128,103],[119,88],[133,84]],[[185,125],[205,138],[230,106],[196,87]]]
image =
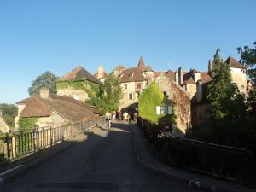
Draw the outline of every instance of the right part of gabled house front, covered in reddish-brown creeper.
[[[167,74],[160,74],[155,79],[155,82],[163,90],[164,95],[168,96],[168,99],[172,101],[174,107],[174,113],[177,116],[175,129],[172,127],[172,134],[175,136],[183,136],[187,129],[191,125],[191,102],[189,93]]]

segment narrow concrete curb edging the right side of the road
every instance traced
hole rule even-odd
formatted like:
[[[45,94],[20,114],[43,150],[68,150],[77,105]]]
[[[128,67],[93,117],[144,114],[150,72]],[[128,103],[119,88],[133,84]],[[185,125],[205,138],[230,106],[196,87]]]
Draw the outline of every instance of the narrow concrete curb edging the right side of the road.
[[[154,172],[154,174],[156,175],[161,175],[164,177],[167,177],[169,179],[171,179],[173,182],[175,183],[179,183],[182,184],[184,186],[188,186],[191,189],[199,189],[202,191],[209,191],[209,192],[234,192],[234,191],[254,191],[253,189],[237,189],[237,190],[230,190],[230,189],[226,189],[217,185],[213,185],[213,184],[208,184],[208,183],[204,183],[201,182],[200,180],[195,180],[193,178],[189,178],[189,177],[181,177],[181,176],[177,176],[172,172],[168,172],[165,169],[161,168],[161,167],[157,167],[154,165],[150,165],[147,162],[145,162],[145,160],[143,160],[142,155],[140,153],[140,151],[137,148],[137,141],[136,141],[136,136],[134,135],[134,131],[132,129],[132,125],[131,125],[131,135],[132,135],[132,147],[134,149],[134,152],[136,154],[136,159],[137,159],[137,163],[139,166],[142,166],[145,170],[148,170],[149,172]]]

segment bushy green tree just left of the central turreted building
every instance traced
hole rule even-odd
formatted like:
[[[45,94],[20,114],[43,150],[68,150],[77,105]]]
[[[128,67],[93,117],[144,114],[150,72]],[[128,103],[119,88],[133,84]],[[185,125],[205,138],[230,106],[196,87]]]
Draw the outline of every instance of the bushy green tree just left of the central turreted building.
[[[90,103],[96,105],[101,113],[119,109],[119,100],[122,97],[122,90],[119,85],[119,79],[113,74],[109,74],[101,88],[90,96]]]

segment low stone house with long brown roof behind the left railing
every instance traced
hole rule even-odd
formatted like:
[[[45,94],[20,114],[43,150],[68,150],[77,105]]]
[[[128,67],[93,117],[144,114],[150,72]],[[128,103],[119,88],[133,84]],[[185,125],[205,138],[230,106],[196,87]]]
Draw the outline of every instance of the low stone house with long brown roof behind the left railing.
[[[39,96],[31,96],[17,102],[18,115],[15,117],[15,131],[19,129],[20,118],[36,118],[38,127],[55,127],[69,122],[99,117],[96,108],[71,97],[49,94],[40,90]]]

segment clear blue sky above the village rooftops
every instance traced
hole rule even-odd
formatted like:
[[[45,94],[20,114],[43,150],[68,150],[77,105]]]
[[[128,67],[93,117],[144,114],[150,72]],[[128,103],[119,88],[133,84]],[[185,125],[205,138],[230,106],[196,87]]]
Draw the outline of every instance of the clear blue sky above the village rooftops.
[[[254,0],[0,0],[0,103],[28,96],[46,70],[90,73],[140,55],[156,71],[207,70],[215,49],[239,60],[256,41]]]

